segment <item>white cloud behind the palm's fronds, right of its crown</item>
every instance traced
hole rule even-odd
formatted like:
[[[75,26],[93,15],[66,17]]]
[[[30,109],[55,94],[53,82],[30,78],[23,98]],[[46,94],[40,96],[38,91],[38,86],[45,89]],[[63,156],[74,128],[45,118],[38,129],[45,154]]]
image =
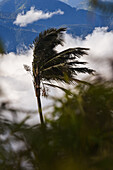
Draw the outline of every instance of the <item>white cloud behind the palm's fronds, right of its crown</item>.
[[[110,59],[113,60],[113,31],[108,32],[107,27],[95,28],[93,33],[87,35],[84,40],[66,34],[65,42],[64,47],[59,46],[57,49],[61,51],[69,47],[90,48],[89,55],[84,56],[82,60],[87,60],[89,67],[95,69],[103,77],[113,78],[110,68]]]

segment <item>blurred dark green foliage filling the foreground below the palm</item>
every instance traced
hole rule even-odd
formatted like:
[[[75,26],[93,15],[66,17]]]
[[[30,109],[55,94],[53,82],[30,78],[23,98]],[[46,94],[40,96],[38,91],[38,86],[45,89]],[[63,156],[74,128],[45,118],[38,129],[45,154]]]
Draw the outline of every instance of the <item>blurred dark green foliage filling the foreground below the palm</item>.
[[[1,170],[112,170],[112,83],[80,84],[49,114],[35,126],[0,117]]]

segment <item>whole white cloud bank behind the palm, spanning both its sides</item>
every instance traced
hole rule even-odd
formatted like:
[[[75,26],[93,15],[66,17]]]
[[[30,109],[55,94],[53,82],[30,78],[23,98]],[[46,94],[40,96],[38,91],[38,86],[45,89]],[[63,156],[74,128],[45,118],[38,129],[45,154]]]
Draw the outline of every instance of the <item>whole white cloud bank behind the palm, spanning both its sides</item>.
[[[111,78],[109,60],[113,60],[113,31],[108,32],[107,27],[95,28],[84,40],[80,37],[73,38],[69,34],[65,34],[64,38],[64,46],[57,47],[59,52],[70,47],[88,47],[89,55],[83,56],[82,60],[88,61],[88,66],[106,79]],[[37,109],[32,77],[23,67],[23,64],[32,65],[32,56],[32,50],[28,50],[24,54],[9,53],[0,58],[0,83],[4,97],[17,108]],[[79,75],[79,78],[84,78],[84,75]],[[58,89],[51,88],[49,92],[55,95],[61,93]],[[48,104],[51,104],[50,101],[42,98],[43,107]],[[35,118],[37,120],[37,115]]]

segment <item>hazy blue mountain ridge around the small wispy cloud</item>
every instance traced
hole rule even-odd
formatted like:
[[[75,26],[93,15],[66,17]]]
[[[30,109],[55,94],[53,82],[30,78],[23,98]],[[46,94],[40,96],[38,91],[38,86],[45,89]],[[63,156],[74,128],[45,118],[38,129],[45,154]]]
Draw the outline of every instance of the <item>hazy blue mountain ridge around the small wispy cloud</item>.
[[[14,25],[13,22],[17,14],[22,13],[22,11],[26,13],[31,6],[44,12],[54,12],[60,9],[64,14],[33,22],[28,24],[27,27]],[[108,25],[108,18],[86,10],[77,10],[58,0],[4,0],[0,2],[0,37],[4,40],[8,52],[16,52],[16,49],[23,44],[28,46],[40,31],[49,27],[65,26],[68,28],[68,33],[74,36],[85,36],[95,26]]]

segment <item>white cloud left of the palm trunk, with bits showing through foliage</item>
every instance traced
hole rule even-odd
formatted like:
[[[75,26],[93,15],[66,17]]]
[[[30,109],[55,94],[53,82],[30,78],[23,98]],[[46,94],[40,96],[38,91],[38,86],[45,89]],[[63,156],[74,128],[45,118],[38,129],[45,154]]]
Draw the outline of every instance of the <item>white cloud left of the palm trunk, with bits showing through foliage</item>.
[[[0,87],[4,92],[4,96],[0,96],[0,101],[10,101],[10,106],[18,109],[38,109],[32,76],[26,72],[23,66],[26,64],[32,67],[32,60],[32,50],[28,50],[23,54],[11,52],[0,57]],[[53,91],[54,89],[51,89],[49,93],[54,93]],[[51,100],[42,98],[43,108],[51,105],[51,102]],[[44,113],[47,111],[48,109]],[[23,115],[20,113],[19,115],[22,119]],[[37,123],[38,120],[39,115],[36,113],[30,123]]]

